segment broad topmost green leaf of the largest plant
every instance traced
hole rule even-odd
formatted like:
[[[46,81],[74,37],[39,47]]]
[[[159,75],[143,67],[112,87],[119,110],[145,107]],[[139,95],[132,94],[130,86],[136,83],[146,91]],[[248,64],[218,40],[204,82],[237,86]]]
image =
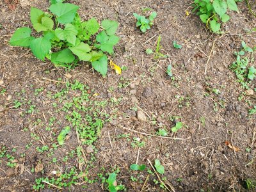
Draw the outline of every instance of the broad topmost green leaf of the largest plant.
[[[50,11],[58,16],[61,24],[67,24],[74,20],[79,6],[71,3],[56,3],[50,6]]]

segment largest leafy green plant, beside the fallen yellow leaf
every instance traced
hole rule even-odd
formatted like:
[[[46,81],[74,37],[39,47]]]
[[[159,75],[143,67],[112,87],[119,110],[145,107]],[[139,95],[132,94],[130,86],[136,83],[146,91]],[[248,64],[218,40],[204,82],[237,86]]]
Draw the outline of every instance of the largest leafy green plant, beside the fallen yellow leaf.
[[[29,47],[36,58],[43,61],[47,58],[57,67],[72,68],[78,61],[89,61],[105,76],[108,71],[106,53],[113,54],[113,46],[119,41],[115,35],[118,22],[102,20],[103,30],[100,31],[95,18],[81,21],[77,14],[79,6],[61,0],[52,0],[51,3],[51,13],[31,8],[31,23],[40,33],[39,37],[31,36],[30,28],[19,28],[12,35],[10,45]]]

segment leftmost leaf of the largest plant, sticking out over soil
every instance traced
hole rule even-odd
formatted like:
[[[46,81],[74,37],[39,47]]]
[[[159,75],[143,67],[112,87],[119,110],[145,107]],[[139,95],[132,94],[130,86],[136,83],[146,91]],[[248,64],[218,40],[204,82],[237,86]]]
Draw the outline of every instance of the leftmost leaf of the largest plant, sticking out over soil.
[[[13,33],[12,38],[10,39],[10,45],[20,46],[20,47],[29,47],[31,40],[35,37],[30,36],[30,28],[19,28]]]

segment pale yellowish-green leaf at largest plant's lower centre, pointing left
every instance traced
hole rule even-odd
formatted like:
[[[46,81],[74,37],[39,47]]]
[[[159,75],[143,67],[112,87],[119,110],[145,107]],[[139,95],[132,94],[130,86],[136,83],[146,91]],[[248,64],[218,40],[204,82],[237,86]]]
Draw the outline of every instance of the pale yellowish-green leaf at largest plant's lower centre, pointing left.
[[[76,54],[79,60],[90,61],[92,59],[92,55],[88,53],[91,51],[91,48],[88,44],[84,44],[83,42],[81,42],[76,47],[69,47],[68,49],[70,49],[74,54]]]

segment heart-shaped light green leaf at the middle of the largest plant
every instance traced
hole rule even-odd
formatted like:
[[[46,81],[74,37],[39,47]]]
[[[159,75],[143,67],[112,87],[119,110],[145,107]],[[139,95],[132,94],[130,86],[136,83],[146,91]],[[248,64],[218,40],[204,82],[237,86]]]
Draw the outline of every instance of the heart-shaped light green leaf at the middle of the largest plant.
[[[66,24],[65,29],[56,28],[55,35],[60,38],[60,40],[67,40],[72,45],[76,44],[76,27],[72,24]]]

